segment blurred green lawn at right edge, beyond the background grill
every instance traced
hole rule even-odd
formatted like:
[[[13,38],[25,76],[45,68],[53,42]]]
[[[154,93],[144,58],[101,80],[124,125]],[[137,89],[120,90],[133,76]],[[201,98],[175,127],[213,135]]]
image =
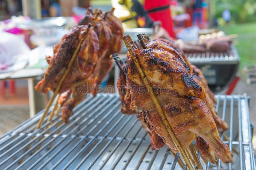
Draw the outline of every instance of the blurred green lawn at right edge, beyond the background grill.
[[[221,27],[228,34],[238,34],[234,44],[240,56],[239,73],[244,66],[256,64],[256,23],[236,24]]]

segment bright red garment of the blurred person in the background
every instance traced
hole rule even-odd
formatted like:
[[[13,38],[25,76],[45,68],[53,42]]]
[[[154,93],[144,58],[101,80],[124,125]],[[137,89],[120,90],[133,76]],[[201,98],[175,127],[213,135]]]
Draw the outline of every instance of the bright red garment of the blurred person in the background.
[[[172,27],[172,17],[169,0],[145,0],[144,8],[154,21],[161,21],[162,27],[171,37],[175,37]],[[163,9],[161,9],[163,7]],[[164,8],[166,7],[166,8]],[[160,9],[157,9],[160,8]],[[156,11],[154,11],[156,9]]]

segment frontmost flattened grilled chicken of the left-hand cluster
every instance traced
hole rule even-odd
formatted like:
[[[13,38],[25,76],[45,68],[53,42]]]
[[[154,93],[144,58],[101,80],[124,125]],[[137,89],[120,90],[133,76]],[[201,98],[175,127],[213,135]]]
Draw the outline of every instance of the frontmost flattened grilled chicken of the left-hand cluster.
[[[85,37],[82,42],[81,49],[73,63],[72,68],[68,72],[59,93],[70,89],[73,84],[76,84],[81,79],[85,79],[93,73],[94,66],[98,59],[99,39],[93,29],[85,35],[87,25],[80,25],[67,33],[54,48],[55,53],[50,60],[49,67],[44,74],[44,78],[39,81],[35,87],[37,91],[46,93],[49,89],[55,91],[61,75],[68,66],[79,40]]]

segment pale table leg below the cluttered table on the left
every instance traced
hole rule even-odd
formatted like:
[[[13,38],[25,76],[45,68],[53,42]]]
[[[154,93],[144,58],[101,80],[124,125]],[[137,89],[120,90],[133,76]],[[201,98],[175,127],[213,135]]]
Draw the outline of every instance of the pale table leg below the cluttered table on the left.
[[[34,117],[37,112],[45,108],[45,95],[35,90],[37,82],[38,80],[35,78],[28,78],[30,117]]]

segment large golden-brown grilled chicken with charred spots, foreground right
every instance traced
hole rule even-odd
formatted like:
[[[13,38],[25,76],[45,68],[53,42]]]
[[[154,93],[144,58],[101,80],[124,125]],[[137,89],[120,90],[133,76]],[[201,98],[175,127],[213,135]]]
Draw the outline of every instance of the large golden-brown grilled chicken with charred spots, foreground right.
[[[232,162],[233,154],[220,140],[207,107],[203,83],[190,73],[186,62],[178,52],[175,55],[172,47],[159,41],[148,42],[148,45],[147,49],[134,49],[134,53],[150,80],[165,115],[168,115],[167,119],[182,148],[187,148],[196,134],[201,137],[196,142],[201,146],[198,149],[205,160],[214,162],[215,153],[223,162]],[[150,134],[152,148],[159,149],[165,143],[173,152],[177,152],[130,54],[127,53],[127,56],[127,69],[124,69],[126,77],[120,74],[117,82],[122,101],[121,111],[124,114],[136,113],[143,128]]]

